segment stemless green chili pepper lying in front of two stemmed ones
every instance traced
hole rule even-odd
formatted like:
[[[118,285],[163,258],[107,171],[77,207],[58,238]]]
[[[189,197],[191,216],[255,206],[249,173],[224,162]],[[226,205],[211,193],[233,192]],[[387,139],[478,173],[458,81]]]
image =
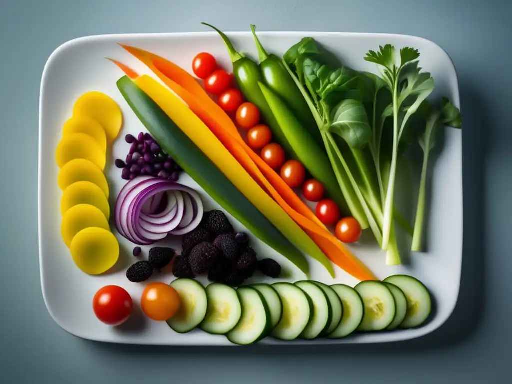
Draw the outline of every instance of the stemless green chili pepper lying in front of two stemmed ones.
[[[345,207],[342,190],[336,180],[329,158],[323,151],[324,146],[317,145],[308,130],[295,117],[288,105],[263,82],[259,86],[276,120],[278,120],[286,139],[295,150],[298,160],[304,164],[311,176],[324,184],[329,197]]]

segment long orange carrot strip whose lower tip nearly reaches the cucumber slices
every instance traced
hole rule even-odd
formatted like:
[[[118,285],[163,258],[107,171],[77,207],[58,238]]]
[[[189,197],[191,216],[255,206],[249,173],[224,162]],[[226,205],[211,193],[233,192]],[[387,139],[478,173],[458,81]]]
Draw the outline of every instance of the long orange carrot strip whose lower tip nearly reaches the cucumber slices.
[[[123,69],[122,67],[120,68]],[[262,185],[262,187],[268,190],[274,200],[278,202],[278,204],[287,212],[287,214],[299,226],[301,226],[306,231],[306,233],[308,233],[311,239],[334,264],[338,265],[340,268],[344,269],[347,273],[351,274],[358,280],[377,280],[375,275],[368,269],[368,267],[361,263],[348,248],[346,248],[342,243],[334,238],[334,236],[332,236],[332,234],[327,229],[325,229],[325,226],[323,228],[319,227],[314,222],[308,220],[308,218],[304,217],[287,204],[287,202],[278,193],[278,191],[276,191],[272,184],[270,184],[270,182],[263,176],[263,174],[260,172],[260,169],[251,161],[251,158],[248,156],[246,151],[244,151],[242,144],[238,140],[235,140],[230,135],[230,133],[224,129],[220,119],[217,119],[216,115],[212,116],[206,111],[199,98],[195,97],[193,94],[185,90],[173,80],[167,78],[166,76],[162,76],[162,73],[157,68],[155,68],[155,66],[152,65],[150,68],[155,71],[157,76],[160,77],[160,79],[170,89],[172,89],[181,99],[183,99],[183,101],[188,104],[189,108],[201,120],[204,121],[212,133],[214,133],[214,135],[219,138],[219,140],[233,155],[233,157],[241,163],[247,172],[255,180],[257,180],[259,184]],[[282,181],[282,179],[280,180]],[[293,193],[293,190],[291,190],[291,192]]]

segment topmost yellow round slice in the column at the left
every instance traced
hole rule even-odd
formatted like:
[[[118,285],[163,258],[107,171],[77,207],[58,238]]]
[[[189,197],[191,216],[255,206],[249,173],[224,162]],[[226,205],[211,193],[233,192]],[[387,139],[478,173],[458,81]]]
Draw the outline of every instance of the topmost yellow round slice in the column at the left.
[[[101,92],[87,92],[80,96],[73,107],[73,115],[97,120],[105,129],[109,142],[115,140],[123,125],[121,108],[114,99]]]

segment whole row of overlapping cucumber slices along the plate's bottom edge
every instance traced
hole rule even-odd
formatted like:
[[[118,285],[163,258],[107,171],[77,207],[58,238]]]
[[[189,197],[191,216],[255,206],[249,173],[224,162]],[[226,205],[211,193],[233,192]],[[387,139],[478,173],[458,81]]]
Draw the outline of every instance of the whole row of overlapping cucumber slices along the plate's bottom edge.
[[[220,283],[204,288],[191,279],[171,283],[181,308],[167,321],[178,333],[196,328],[249,345],[280,340],[337,339],[353,332],[421,326],[432,310],[428,289],[417,279],[394,275],[349,287],[316,281],[254,284],[238,289]]]

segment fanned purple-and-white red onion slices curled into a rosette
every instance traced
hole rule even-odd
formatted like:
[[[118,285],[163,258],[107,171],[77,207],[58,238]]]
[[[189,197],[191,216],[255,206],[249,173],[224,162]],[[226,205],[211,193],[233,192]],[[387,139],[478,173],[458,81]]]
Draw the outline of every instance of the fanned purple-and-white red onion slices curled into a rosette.
[[[151,176],[126,183],[115,206],[119,233],[138,245],[154,244],[169,233],[188,233],[203,215],[203,202],[194,189]]]

